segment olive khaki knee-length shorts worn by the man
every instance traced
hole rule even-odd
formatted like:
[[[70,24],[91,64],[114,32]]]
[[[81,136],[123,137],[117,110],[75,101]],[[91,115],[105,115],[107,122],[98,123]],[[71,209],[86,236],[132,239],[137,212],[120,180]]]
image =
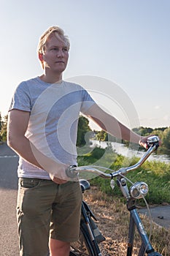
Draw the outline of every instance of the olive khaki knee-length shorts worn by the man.
[[[76,241],[79,236],[82,192],[79,182],[55,184],[19,178],[18,233],[20,256],[47,256],[49,237]]]

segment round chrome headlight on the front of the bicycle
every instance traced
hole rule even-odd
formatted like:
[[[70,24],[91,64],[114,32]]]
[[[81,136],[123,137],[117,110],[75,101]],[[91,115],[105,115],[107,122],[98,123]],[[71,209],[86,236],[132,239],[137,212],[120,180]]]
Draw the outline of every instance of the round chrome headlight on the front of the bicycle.
[[[130,194],[131,197],[139,199],[147,195],[148,190],[148,186],[145,182],[138,181],[130,187]]]

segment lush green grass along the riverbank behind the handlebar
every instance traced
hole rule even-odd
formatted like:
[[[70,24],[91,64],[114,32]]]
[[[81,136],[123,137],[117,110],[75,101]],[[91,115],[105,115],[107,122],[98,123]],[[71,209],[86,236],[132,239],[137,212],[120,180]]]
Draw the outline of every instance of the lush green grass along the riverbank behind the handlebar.
[[[104,148],[94,148],[89,154],[78,157],[79,165],[103,165],[108,166],[112,170],[118,170],[120,167],[134,165],[139,158],[134,157],[128,159],[121,155],[115,154],[109,148],[107,151]],[[144,181],[149,186],[149,192],[146,196],[147,202],[152,204],[169,204],[170,203],[170,164],[164,162],[150,162],[146,161],[137,170],[128,173],[127,178],[133,183],[136,181]],[[83,177],[82,177],[83,178]],[[87,178],[87,176],[85,176]],[[93,176],[88,176],[93,178]],[[112,189],[110,187],[110,181],[96,177],[91,179],[90,184],[100,187],[102,192],[107,195],[112,195]],[[122,197],[120,189],[115,186],[114,195]],[[139,204],[142,204],[142,200],[139,200]]]

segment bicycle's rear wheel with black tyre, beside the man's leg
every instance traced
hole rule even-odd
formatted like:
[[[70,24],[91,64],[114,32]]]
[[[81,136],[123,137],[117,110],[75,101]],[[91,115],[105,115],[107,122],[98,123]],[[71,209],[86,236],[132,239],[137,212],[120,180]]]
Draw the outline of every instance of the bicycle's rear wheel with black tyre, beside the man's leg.
[[[85,223],[80,225],[79,239],[71,243],[71,248],[70,256],[97,256]]]

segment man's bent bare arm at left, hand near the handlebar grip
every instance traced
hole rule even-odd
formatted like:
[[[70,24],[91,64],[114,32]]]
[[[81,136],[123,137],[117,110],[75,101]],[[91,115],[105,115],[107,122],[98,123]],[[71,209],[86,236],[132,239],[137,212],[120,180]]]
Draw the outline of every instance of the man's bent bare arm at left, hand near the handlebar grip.
[[[68,165],[58,163],[54,159],[49,159],[42,154],[29,140],[26,138],[26,130],[28,127],[30,113],[22,110],[11,110],[8,116],[7,125],[7,144],[11,147],[20,157],[30,162],[36,167],[46,170],[50,173],[50,177],[58,176],[56,183],[65,183],[60,180],[63,177],[63,170],[66,170]],[[56,174],[57,172],[57,174]],[[55,181],[55,180],[53,180]]]

